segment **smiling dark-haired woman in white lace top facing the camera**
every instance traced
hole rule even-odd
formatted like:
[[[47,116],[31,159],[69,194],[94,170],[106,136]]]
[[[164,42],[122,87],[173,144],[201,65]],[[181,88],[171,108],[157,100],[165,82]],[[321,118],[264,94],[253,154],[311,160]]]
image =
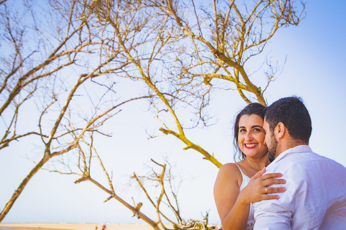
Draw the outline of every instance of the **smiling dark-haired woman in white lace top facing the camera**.
[[[234,146],[241,161],[223,165],[214,185],[216,207],[224,230],[253,229],[253,202],[279,199],[270,193],[284,192],[285,188],[270,188],[272,184],[284,184],[281,173],[265,173],[270,164],[263,130],[265,107],[251,103],[236,117]],[[250,179],[251,178],[251,179]]]

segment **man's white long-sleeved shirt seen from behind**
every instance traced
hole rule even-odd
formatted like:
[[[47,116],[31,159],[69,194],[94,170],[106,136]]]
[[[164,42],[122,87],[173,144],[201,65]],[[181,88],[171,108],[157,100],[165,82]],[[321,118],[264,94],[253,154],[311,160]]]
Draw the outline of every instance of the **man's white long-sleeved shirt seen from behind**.
[[[253,203],[254,230],[346,229],[346,168],[300,145],[281,153],[265,174],[281,172],[278,200]]]

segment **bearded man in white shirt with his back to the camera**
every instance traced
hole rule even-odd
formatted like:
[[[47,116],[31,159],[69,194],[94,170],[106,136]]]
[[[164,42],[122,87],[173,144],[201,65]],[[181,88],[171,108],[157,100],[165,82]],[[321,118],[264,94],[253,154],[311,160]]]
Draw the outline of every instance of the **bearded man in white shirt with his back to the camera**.
[[[301,98],[281,98],[267,107],[263,128],[273,160],[266,173],[281,172],[286,191],[274,194],[278,200],[253,204],[254,230],[346,229],[346,168],[308,146],[311,119]]]

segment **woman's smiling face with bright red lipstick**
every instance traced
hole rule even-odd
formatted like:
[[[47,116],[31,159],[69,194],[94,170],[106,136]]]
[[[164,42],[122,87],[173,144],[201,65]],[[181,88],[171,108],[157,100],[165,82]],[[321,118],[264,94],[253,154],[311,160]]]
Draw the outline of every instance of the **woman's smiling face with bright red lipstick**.
[[[239,119],[238,144],[247,157],[261,158],[268,149],[264,144],[263,119],[255,114]]]

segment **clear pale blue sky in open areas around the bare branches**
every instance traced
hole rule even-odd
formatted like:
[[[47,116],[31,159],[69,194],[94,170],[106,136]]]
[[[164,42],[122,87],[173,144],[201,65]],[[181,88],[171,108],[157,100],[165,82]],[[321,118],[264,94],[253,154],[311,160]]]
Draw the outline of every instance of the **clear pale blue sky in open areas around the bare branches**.
[[[268,104],[281,97],[302,97],[312,119],[309,144],[312,150],[344,166],[345,7],[344,1],[329,1],[328,4],[322,0],[309,1],[307,16],[299,26],[277,31],[266,47],[266,52],[279,61],[287,55],[281,76],[267,90]],[[144,209],[149,203],[143,194],[126,183],[133,171],[145,171],[143,164],[150,158],[160,161],[164,154],[176,164],[176,172],[186,178],[179,191],[182,216],[202,219],[201,212],[210,210],[210,223],[219,222],[212,194],[217,167],[194,150],[183,151],[184,144],[172,136],[147,140],[145,129],[159,127],[148,127],[153,124],[153,114],[146,111],[144,104],[134,103],[136,106],[125,106],[117,119],[109,123],[113,137],[107,145],[100,143],[99,146],[105,166],[113,170],[116,193],[129,203],[131,197],[143,202],[143,211],[148,210],[145,213],[156,219],[153,209]],[[231,123],[236,112],[245,105],[237,92],[217,91],[210,111],[217,115],[218,123],[208,129],[186,130],[186,136],[213,152],[221,163],[233,162]],[[133,140],[138,142],[133,143]],[[31,144],[28,139],[21,142],[27,146]],[[18,147],[0,152],[0,209],[33,167],[25,159],[25,151]],[[40,170],[3,222],[144,223],[131,217],[133,214],[114,199],[103,203],[108,197],[106,193],[88,182],[74,184],[76,179]]]

